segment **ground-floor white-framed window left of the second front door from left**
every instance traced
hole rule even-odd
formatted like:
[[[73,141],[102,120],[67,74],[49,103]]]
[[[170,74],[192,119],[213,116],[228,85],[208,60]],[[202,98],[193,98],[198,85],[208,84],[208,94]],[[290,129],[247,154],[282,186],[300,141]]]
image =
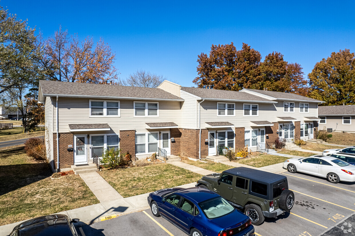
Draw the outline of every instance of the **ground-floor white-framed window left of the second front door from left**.
[[[136,134],[136,154],[158,151],[159,133]]]

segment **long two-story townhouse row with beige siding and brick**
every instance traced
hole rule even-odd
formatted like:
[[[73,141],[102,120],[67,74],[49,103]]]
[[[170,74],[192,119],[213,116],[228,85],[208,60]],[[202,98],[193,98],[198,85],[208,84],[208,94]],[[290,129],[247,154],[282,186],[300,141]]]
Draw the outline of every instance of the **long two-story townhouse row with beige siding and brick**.
[[[255,151],[278,137],[312,139],[321,103],[290,93],[188,88],[167,80],[158,88],[40,80],[38,94],[53,170],[58,158],[63,170],[92,162],[107,147],[132,158],[161,148],[168,156],[198,159],[224,146]]]

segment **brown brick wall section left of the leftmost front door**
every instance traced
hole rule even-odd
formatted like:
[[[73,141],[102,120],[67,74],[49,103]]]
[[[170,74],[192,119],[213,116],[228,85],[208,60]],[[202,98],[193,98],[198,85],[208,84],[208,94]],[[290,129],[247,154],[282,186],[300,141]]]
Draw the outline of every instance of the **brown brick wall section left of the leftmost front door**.
[[[58,168],[57,165],[57,134],[53,134],[53,159],[54,169]],[[68,152],[68,145],[73,145],[73,133],[60,133],[59,134],[59,168],[70,168],[74,164],[74,152]]]

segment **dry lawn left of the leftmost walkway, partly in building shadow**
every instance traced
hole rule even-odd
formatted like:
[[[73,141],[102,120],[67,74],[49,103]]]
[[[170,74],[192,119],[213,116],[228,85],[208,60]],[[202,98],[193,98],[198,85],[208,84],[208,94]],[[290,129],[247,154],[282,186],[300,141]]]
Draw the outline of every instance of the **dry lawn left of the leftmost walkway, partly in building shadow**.
[[[52,175],[23,147],[0,151],[0,225],[96,203],[80,176]]]

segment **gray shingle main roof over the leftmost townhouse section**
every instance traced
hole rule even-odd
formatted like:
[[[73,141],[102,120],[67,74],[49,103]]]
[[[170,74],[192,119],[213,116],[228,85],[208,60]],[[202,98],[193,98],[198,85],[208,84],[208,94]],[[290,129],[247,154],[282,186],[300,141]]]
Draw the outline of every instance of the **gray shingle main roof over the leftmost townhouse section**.
[[[151,99],[151,100],[180,100],[169,92],[158,88],[141,88],[109,84],[85,84],[40,80],[43,96],[66,97],[113,97],[125,99]]]

